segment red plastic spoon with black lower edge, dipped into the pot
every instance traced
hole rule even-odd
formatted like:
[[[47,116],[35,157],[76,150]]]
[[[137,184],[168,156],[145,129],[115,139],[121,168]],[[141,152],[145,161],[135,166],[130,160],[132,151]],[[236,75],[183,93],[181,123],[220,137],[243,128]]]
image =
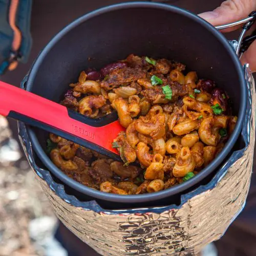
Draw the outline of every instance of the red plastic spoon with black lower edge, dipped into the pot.
[[[77,121],[69,116],[65,106],[2,81],[0,114],[40,127],[97,152],[101,151],[101,154],[105,152],[99,150],[100,147],[115,155],[118,154],[116,149],[112,148],[112,142],[118,133],[124,130],[119,121],[101,127]],[[82,140],[78,140],[77,137]]]

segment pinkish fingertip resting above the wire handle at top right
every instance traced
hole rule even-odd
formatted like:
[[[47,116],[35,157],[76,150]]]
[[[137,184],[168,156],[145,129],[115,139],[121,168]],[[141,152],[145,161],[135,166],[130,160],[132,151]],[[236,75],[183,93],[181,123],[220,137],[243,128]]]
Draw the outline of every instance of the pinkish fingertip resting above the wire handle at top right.
[[[237,22],[246,18],[256,9],[255,0],[227,0],[220,7],[211,12],[204,12],[199,16],[213,26]],[[225,32],[236,30],[237,27],[229,28]]]

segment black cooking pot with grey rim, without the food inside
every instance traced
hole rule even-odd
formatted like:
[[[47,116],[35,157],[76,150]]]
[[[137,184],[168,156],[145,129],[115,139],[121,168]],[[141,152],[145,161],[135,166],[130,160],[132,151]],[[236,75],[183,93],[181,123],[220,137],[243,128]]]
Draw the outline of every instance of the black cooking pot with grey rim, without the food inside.
[[[197,71],[200,78],[215,80],[235,103],[233,112],[238,115],[238,122],[223,151],[196,177],[158,193],[129,196],[101,193],[67,177],[45,153],[48,133],[27,127],[34,151],[50,172],[67,188],[77,191],[82,200],[96,199],[108,208],[174,203],[177,195],[202,184],[230,153],[241,133],[246,111],[243,68],[225,37],[200,17],[163,4],[119,4],[77,19],[40,53],[26,89],[59,102],[82,70],[100,69],[130,53],[174,59],[185,63],[188,71]]]

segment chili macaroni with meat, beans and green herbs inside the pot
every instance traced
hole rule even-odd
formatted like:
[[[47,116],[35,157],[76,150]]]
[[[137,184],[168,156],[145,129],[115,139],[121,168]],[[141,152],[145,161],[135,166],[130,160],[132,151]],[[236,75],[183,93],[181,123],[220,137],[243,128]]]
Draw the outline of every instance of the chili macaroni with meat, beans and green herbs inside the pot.
[[[184,70],[181,63],[132,54],[100,72],[81,72],[63,104],[91,118],[116,110],[125,132],[113,146],[125,164],[50,134],[54,164],[82,184],[118,195],[154,193],[199,173],[224,148],[237,117],[214,82]],[[141,168],[129,165],[136,161]]]

